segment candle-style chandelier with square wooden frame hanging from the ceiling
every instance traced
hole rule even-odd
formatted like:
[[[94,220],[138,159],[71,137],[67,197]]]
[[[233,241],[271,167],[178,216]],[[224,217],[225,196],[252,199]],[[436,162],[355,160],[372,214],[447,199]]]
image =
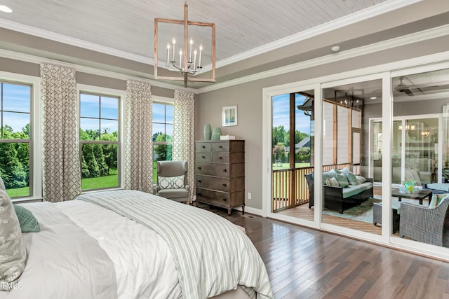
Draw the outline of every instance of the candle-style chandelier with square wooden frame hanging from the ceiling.
[[[188,8],[186,1],[186,3],[184,4],[184,20],[171,20],[163,18],[154,19],[154,78],[162,80],[184,81],[184,86],[186,88],[188,81],[215,82],[215,24],[189,21],[187,15]],[[175,34],[175,31],[173,29],[170,31],[168,28],[167,31],[164,32],[164,34],[161,34],[162,30],[159,30],[159,23],[182,25],[183,34],[181,43],[178,42],[180,41],[180,39],[178,39],[176,36],[174,36],[173,39],[161,40],[161,45],[164,46],[163,52],[165,52],[166,49],[166,57],[164,57],[165,55],[161,55],[161,59],[163,58],[164,62],[164,68],[159,69],[160,72],[158,74],[159,36],[161,36],[161,39],[163,39],[163,36],[168,36],[171,33]],[[198,34],[200,34],[199,32],[203,33],[203,31],[201,31],[199,28],[210,29],[210,40],[207,40],[206,36],[202,36],[201,38],[206,40],[200,41],[198,43],[192,36],[190,36],[189,38],[189,27],[191,27],[192,31]],[[203,46],[205,42],[210,45],[210,49],[206,49],[206,47]],[[208,55],[206,53],[210,54]],[[198,77],[196,75],[203,70],[203,62],[206,57],[210,57],[211,76]],[[205,72],[203,71],[203,73]]]

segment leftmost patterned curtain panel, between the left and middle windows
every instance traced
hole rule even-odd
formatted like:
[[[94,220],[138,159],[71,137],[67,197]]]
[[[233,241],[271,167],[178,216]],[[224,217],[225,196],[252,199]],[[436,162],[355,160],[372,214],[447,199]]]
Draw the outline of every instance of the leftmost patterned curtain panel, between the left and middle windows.
[[[81,193],[75,70],[41,64],[43,198],[73,200]]]

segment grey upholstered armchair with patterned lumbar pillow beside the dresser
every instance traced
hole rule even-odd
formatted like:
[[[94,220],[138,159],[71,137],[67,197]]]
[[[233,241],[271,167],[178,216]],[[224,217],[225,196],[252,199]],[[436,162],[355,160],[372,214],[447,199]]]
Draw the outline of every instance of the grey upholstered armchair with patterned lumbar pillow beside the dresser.
[[[177,202],[189,201],[186,161],[157,162],[156,195]]]

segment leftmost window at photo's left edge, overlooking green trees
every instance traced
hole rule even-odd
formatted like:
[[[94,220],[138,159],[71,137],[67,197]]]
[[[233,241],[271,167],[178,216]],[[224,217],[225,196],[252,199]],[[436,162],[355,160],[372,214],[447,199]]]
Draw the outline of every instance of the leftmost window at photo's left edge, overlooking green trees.
[[[10,197],[31,196],[32,85],[0,81],[0,176]]]

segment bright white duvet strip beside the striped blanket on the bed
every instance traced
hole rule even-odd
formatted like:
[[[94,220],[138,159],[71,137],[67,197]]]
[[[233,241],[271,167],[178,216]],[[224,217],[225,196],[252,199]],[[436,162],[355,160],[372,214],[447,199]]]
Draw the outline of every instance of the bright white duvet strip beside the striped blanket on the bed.
[[[118,298],[182,297],[170,250],[156,232],[90,202],[55,206],[97,239],[112,259]]]

